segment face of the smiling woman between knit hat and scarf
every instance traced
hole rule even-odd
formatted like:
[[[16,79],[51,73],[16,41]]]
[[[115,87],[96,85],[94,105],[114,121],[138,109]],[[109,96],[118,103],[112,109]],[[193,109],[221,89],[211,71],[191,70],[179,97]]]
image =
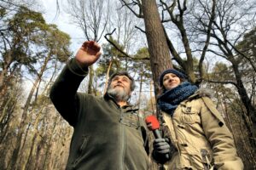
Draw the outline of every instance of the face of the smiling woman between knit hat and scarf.
[[[167,73],[163,78],[163,85],[166,90],[171,90],[172,88],[176,88],[181,83],[179,77],[177,77],[173,73]]]

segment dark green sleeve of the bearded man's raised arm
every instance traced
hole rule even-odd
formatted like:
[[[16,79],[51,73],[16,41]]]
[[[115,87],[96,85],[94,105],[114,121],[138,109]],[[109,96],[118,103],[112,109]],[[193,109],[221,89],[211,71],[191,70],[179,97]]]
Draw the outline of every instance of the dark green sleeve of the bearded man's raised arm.
[[[49,97],[56,110],[71,126],[75,125],[79,116],[77,90],[87,73],[88,68],[83,70],[75,59],[70,59],[49,92]]]

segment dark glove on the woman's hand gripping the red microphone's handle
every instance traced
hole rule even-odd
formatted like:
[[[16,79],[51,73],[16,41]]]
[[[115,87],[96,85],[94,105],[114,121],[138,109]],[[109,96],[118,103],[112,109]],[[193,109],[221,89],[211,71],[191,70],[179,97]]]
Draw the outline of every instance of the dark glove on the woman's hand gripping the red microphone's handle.
[[[153,142],[153,157],[155,161],[164,163],[170,160],[171,146],[169,144],[170,139],[154,139]],[[166,157],[168,155],[168,157]]]

